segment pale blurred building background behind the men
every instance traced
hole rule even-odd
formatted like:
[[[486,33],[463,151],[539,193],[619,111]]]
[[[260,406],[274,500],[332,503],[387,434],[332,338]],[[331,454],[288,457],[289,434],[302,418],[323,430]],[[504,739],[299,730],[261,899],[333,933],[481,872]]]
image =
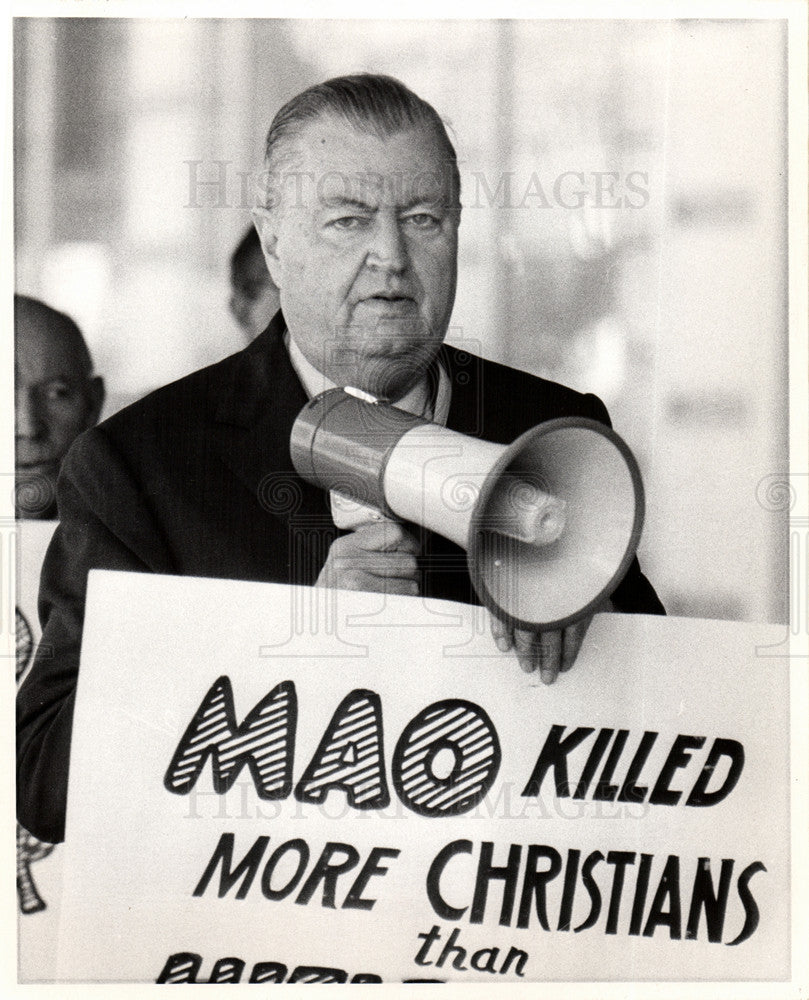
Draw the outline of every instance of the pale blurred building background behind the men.
[[[240,349],[230,254],[275,111],[391,73],[463,184],[449,340],[597,392],[672,614],[787,619],[778,21],[18,18],[16,290],[79,323],[107,413]]]

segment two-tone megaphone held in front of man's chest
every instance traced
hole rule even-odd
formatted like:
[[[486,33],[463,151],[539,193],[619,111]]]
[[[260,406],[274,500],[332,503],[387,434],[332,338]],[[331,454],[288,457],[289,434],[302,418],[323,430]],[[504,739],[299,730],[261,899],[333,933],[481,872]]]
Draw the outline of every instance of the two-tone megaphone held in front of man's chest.
[[[290,453],[304,479],[466,549],[481,602],[513,627],[564,628],[612,594],[644,517],[613,430],[563,417],[500,445],[362,396],[329,389],[301,410]]]

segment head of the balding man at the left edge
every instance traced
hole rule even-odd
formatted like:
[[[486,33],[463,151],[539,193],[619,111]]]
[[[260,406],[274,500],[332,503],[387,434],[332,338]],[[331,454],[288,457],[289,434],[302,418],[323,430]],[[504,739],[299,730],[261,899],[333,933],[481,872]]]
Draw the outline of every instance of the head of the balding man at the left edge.
[[[64,313],[14,296],[16,513],[56,517],[56,477],[82,431],[97,421],[104,384],[81,331]]]

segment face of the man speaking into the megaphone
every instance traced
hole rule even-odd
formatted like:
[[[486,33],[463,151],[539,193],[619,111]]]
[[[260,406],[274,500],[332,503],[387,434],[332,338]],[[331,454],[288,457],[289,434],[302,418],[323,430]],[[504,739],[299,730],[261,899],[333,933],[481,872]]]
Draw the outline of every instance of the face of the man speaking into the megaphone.
[[[330,116],[289,142],[259,229],[290,335],[337,385],[395,401],[435,357],[455,298],[446,151],[430,128],[381,138]]]

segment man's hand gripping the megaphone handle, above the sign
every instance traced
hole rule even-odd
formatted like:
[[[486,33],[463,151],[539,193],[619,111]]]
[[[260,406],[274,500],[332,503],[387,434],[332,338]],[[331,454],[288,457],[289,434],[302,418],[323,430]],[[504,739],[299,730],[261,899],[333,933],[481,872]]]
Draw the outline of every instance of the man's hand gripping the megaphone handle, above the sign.
[[[396,521],[363,524],[332,543],[316,586],[416,597],[418,550],[413,535]]]

